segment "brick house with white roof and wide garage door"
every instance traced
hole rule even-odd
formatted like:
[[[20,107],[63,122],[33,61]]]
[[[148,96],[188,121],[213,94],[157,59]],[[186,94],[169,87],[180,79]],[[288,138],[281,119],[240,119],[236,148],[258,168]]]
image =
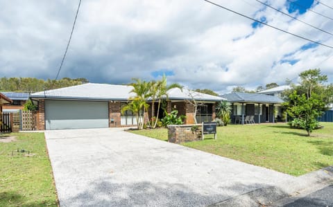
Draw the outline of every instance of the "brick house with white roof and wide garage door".
[[[49,91],[32,93],[30,98],[38,106],[37,129],[80,129],[98,127],[128,127],[137,125],[134,114],[121,108],[128,98],[135,96],[131,86],[116,84],[87,83]],[[203,120],[215,118],[215,104],[224,98],[210,96],[187,89],[170,89],[167,111],[173,108],[178,115],[187,116],[185,123],[194,123],[194,106],[191,101],[200,102],[197,117]],[[150,102],[148,100],[148,102]],[[157,105],[155,105],[157,107]],[[162,113],[160,113],[161,115]],[[151,107],[148,110],[149,117]]]

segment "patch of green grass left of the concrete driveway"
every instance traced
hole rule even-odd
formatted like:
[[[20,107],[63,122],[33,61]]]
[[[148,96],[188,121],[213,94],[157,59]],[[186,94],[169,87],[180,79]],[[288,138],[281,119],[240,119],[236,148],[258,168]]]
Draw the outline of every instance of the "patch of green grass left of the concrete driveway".
[[[0,143],[0,206],[58,206],[43,133],[12,133]],[[17,153],[17,148],[29,150]],[[13,153],[12,153],[13,152]]]

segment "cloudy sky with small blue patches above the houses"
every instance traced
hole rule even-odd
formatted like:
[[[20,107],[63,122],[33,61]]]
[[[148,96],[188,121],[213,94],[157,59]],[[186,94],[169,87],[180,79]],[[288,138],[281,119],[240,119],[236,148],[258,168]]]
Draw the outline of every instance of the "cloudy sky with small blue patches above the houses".
[[[333,33],[331,1],[260,1]],[[333,35],[258,1],[214,3],[333,46]],[[78,0],[0,0],[0,77],[56,78],[77,8]],[[315,68],[333,82],[332,66],[332,48],[203,0],[82,0],[59,78],[127,84],[165,74],[169,83],[222,94],[236,86],[282,85],[287,78],[297,82],[299,73]]]

